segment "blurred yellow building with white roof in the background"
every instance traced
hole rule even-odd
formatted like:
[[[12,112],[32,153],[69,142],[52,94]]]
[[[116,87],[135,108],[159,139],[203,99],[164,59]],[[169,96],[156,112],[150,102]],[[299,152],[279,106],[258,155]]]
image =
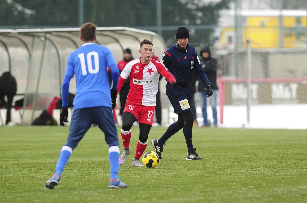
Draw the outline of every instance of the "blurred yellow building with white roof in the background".
[[[234,12],[228,13],[233,17]],[[223,18],[223,14],[221,15]],[[306,45],[305,10],[244,10],[237,14],[237,26],[221,24],[220,42],[224,47],[234,47],[235,38],[246,47],[246,39],[252,48],[301,48]],[[282,26],[280,26],[282,24]],[[238,29],[235,32],[235,28]]]

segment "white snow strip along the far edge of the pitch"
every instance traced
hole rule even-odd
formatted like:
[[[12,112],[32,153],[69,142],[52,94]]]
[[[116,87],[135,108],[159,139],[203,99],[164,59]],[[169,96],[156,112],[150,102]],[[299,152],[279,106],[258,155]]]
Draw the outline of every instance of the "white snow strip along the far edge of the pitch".
[[[118,109],[117,109],[118,110]],[[196,108],[198,126],[203,125],[202,111]],[[118,115],[117,111],[117,115]],[[41,113],[39,111],[38,113]],[[207,107],[208,119],[212,119],[212,108]],[[6,109],[1,109],[2,120],[5,122]],[[223,123],[220,123],[220,107],[217,106],[218,127],[226,128],[269,128],[269,129],[307,129],[307,104],[274,104],[251,106],[250,122],[247,123],[246,106],[224,106]],[[59,120],[60,109],[53,110],[53,118]],[[68,120],[71,119],[69,113]],[[121,118],[117,116],[118,125],[121,125]],[[168,122],[167,122],[168,120]],[[162,109],[163,126],[168,126],[177,120],[173,108]],[[19,111],[12,109],[12,121],[20,123]],[[0,123],[1,124],[1,123]],[[67,123],[68,125],[70,123]],[[66,123],[65,123],[66,125]]]

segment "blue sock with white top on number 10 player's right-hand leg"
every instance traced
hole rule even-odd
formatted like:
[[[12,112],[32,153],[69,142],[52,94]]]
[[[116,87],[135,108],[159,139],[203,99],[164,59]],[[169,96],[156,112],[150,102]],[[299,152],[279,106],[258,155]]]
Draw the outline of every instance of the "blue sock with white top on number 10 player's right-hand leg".
[[[115,181],[118,180],[119,171],[119,146],[111,146],[109,148],[110,174]]]

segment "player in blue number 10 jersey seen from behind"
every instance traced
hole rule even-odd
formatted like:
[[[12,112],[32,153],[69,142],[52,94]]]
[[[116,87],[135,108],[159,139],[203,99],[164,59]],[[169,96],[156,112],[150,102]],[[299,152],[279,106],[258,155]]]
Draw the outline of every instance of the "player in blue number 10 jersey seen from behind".
[[[67,59],[62,84],[62,110],[60,124],[68,122],[68,88],[69,81],[76,76],[76,96],[73,100],[72,121],[69,135],[61,149],[54,175],[45,183],[53,189],[60,181],[61,173],[72,154],[72,151],[93,123],[97,124],[105,135],[109,145],[111,178],[109,188],[128,187],[118,177],[119,139],[112,107],[115,106],[119,69],[113,55],[107,47],[95,44],[96,25],[84,23],[80,28],[80,39],[83,45],[72,52]],[[113,88],[110,91],[107,66],[111,69]],[[111,100],[112,99],[112,102]]]

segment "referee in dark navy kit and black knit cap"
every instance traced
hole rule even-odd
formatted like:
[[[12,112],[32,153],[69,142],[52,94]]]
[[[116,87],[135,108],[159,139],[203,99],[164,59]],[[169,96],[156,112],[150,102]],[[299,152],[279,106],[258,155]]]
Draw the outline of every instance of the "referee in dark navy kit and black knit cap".
[[[174,107],[174,112],[178,115],[178,120],[171,124],[160,139],[151,140],[154,150],[162,159],[161,153],[166,140],[183,128],[185,142],[188,147],[187,160],[203,159],[196,153],[192,143],[193,113],[190,108],[190,84],[192,80],[192,70],[194,69],[207,87],[207,95],[212,96],[211,84],[204,72],[204,69],[197,56],[195,47],[188,45],[190,38],[186,27],[179,27],[176,31],[177,44],[167,49],[161,58],[161,62],[175,77],[176,81],[181,80],[181,84],[175,88],[167,83],[166,95]]]

